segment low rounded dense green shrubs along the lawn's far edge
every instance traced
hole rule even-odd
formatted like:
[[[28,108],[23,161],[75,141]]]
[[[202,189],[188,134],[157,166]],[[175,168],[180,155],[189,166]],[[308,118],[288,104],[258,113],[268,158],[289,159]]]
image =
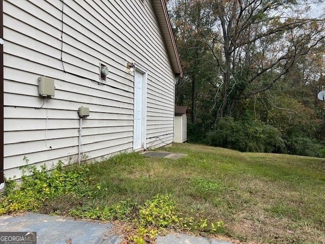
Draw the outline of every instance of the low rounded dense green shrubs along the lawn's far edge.
[[[301,133],[283,138],[279,130],[260,121],[220,119],[216,130],[207,134],[206,143],[239,151],[287,153],[319,157],[323,145]]]

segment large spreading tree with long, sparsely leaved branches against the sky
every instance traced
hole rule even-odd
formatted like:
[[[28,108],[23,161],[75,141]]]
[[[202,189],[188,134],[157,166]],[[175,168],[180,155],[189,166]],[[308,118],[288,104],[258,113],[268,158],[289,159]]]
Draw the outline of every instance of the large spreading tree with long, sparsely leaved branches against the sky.
[[[211,55],[216,117],[233,116],[238,104],[271,88],[297,58],[315,53],[324,41],[324,19],[294,0],[175,0],[173,22],[179,43]],[[178,14],[181,13],[181,14]],[[192,45],[192,46],[190,46]],[[183,61],[183,59],[182,59]],[[207,63],[205,63],[207,64]],[[193,66],[194,67],[194,66]],[[196,82],[196,77],[192,77]]]

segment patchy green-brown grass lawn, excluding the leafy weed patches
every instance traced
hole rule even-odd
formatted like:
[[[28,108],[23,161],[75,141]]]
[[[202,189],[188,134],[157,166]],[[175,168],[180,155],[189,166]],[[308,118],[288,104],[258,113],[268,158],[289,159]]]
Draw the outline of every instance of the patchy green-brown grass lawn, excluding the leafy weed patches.
[[[182,216],[223,221],[224,236],[242,243],[325,243],[323,159],[195,144],[160,150],[174,160],[122,154],[90,166],[84,197],[47,200],[42,211],[102,209],[121,201],[143,205],[171,195]]]

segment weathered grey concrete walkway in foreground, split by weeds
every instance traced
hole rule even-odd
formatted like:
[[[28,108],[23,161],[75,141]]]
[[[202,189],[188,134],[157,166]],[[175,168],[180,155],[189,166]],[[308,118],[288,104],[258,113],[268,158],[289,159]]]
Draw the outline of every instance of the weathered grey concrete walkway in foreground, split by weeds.
[[[19,216],[0,216],[0,232],[37,232],[38,244],[118,244],[113,225],[99,221],[75,220],[27,212]],[[185,234],[157,236],[157,244],[231,244],[228,241],[192,237]]]

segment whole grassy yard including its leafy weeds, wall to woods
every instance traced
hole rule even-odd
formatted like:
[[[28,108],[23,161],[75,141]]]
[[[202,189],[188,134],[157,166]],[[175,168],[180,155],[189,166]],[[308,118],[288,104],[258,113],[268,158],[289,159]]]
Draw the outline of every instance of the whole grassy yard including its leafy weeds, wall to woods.
[[[166,231],[242,243],[324,243],[323,159],[195,144],[163,150],[187,156],[174,160],[121,154],[82,169],[59,168],[53,177],[41,177],[31,207],[8,190],[0,210],[115,221],[128,241],[136,243]],[[30,190],[35,181],[27,180],[25,188]],[[69,184],[62,187],[63,182]]]

